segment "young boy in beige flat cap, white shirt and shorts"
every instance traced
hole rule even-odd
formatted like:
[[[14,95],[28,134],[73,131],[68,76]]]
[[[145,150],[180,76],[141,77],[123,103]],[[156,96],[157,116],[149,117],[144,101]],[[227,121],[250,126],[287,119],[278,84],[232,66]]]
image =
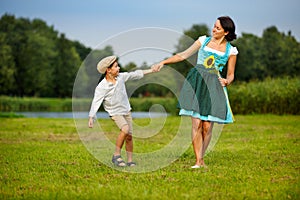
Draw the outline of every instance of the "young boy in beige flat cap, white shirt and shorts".
[[[97,64],[97,70],[101,74],[104,74],[105,78],[95,89],[94,99],[89,112],[88,125],[90,128],[93,127],[95,115],[103,102],[105,111],[108,112],[111,119],[120,129],[112,162],[119,167],[125,167],[126,165],[133,167],[136,163],[132,161],[132,116],[125,82],[128,80],[141,79],[145,74],[152,73],[153,70],[147,69],[119,73],[120,67],[118,66],[116,56],[103,58]],[[127,164],[121,157],[121,149],[124,142],[126,142]]]

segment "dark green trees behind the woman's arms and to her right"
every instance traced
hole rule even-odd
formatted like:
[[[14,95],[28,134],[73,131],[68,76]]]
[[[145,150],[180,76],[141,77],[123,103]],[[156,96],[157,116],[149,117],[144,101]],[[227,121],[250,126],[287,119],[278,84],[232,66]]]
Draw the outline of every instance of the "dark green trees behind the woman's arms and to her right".
[[[187,49],[201,35],[209,35],[205,25],[193,25],[184,32],[176,52]],[[291,35],[281,33],[275,26],[264,30],[258,37],[249,33],[232,42],[238,48],[235,79],[238,81],[264,80],[267,77],[300,76],[300,43]],[[187,61],[172,64],[184,76],[196,63],[196,55]],[[226,67],[222,75],[226,77]]]

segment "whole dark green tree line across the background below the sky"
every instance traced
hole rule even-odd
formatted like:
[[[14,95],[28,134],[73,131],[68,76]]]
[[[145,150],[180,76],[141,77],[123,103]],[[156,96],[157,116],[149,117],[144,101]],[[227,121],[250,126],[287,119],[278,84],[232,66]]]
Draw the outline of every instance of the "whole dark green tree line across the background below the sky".
[[[187,48],[200,35],[210,35],[207,25],[196,24],[184,31],[176,52]],[[239,50],[237,81],[300,75],[300,43],[291,32],[282,33],[271,26],[263,31],[262,37],[242,33],[232,45]],[[110,46],[92,51],[78,41],[69,40],[41,19],[4,14],[0,19],[0,95],[71,97],[77,75],[80,84],[75,85],[75,92],[90,96],[100,78],[95,67],[97,62],[113,53]],[[186,75],[195,60],[196,55],[171,66]],[[121,70],[137,67],[129,63],[121,66]],[[139,67],[148,66],[145,63]],[[149,84],[138,88],[133,96],[166,96],[169,93],[167,88]]]

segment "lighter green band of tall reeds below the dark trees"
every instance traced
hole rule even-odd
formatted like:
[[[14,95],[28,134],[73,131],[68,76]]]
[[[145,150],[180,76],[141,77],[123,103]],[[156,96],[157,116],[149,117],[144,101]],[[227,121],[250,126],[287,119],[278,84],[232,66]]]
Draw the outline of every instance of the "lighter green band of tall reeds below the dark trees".
[[[166,79],[168,80],[168,79]],[[170,79],[173,80],[173,79]],[[150,90],[150,89],[149,89]],[[151,91],[151,90],[150,90]],[[268,78],[265,81],[235,82],[228,87],[229,100],[234,114],[272,113],[300,114],[300,79]],[[88,111],[91,98],[11,98],[0,97],[1,112],[18,111]],[[133,111],[149,111],[161,105],[167,113],[177,115],[175,97],[132,97]],[[103,111],[103,108],[100,108]]]

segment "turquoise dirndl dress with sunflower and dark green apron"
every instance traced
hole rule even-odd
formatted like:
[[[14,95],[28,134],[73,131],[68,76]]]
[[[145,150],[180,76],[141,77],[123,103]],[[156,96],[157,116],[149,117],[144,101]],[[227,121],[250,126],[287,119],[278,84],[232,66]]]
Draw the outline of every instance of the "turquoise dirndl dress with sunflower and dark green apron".
[[[226,44],[223,55],[205,50],[211,37],[206,37],[198,52],[197,64],[193,67],[179,95],[179,115],[187,115],[204,121],[232,123],[234,121],[226,87],[218,77],[229,58],[231,45]]]

